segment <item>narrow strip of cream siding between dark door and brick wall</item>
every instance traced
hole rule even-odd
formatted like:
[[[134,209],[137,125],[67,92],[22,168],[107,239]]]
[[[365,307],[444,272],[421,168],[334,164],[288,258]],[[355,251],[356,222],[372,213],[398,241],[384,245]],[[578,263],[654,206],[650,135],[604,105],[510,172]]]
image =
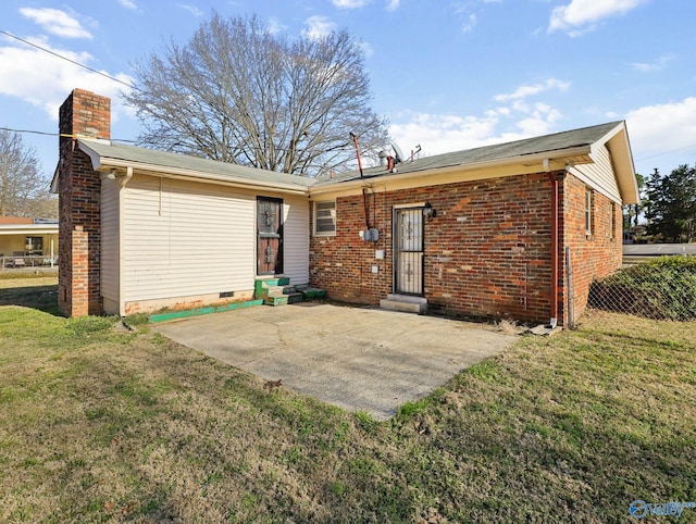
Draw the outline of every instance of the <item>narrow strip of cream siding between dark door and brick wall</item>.
[[[307,197],[283,198],[284,275],[293,284],[309,283],[309,202]]]

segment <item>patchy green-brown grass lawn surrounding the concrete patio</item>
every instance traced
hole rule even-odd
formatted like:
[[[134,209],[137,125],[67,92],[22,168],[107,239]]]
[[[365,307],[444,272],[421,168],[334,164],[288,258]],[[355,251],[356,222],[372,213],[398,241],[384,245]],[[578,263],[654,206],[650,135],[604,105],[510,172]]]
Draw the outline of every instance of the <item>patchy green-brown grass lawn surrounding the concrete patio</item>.
[[[606,523],[696,501],[696,323],[593,313],[381,423],[9,282],[1,522]]]

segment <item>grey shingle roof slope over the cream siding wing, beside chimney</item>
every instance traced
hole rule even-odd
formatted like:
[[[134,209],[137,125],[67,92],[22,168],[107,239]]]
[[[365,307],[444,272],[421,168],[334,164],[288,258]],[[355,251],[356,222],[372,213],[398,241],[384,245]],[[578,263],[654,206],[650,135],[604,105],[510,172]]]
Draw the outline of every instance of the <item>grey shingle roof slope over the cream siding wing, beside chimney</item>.
[[[166,171],[166,169],[185,170],[200,175],[228,176],[234,179],[245,179],[250,183],[293,185],[298,188],[307,188],[314,184],[314,179],[304,176],[288,175],[275,171],[248,167],[215,160],[201,159],[187,154],[170,153],[156,149],[125,146],[105,140],[79,139],[80,145],[94,151],[102,159],[122,160],[152,166],[152,171]]]

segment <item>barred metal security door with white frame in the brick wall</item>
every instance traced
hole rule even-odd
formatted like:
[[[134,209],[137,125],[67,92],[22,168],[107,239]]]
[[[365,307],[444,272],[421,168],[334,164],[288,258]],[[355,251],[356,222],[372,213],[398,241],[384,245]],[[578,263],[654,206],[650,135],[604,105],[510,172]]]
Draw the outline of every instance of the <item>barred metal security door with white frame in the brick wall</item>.
[[[394,211],[394,291],[423,295],[423,208]]]

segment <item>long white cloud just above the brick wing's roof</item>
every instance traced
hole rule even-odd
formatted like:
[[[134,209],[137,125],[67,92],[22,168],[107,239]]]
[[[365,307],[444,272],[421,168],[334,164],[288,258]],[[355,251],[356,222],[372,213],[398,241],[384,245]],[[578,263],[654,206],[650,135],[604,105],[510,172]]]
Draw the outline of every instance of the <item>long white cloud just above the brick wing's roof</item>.
[[[399,115],[403,123],[389,126],[389,134],[405,150],[420,144],[423,154],[432,155],[546,135],[560,116],[540,102],[496,108],[478,116],[407,113]]]

